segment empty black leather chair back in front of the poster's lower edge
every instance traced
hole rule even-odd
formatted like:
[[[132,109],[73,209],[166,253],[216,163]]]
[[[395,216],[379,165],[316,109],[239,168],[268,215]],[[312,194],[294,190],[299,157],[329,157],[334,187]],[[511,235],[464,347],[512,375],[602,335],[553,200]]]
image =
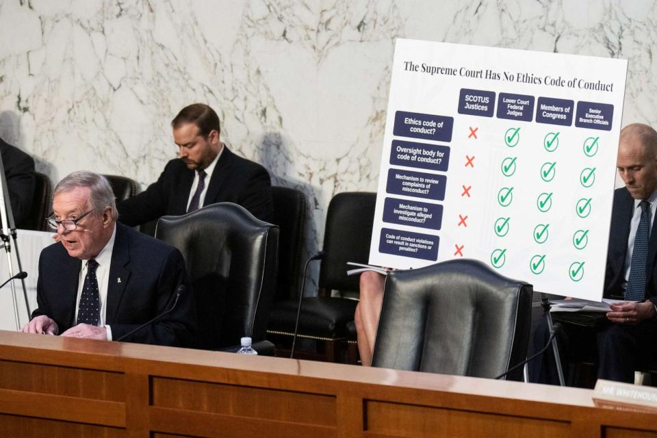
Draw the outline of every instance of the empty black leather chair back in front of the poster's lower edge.
[[[532,286],[458,259],[385,280],[372,365],[492,378],[523,361]],[[508,379],[520,380],[522,369]]]

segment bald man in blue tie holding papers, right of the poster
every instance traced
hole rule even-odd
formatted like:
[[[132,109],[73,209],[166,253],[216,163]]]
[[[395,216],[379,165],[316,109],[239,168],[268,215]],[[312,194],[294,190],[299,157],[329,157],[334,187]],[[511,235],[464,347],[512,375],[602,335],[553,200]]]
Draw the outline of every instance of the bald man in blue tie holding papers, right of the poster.
[[[585,336],[575,326],[565,325],[560,334],[564,372],[567,360],[576,352],[597,347],[598,378],[634,381],[634,370],[657,357],[657,132],[635,123],[621,131],[617,168],[626,183],[614,194],[609,233],[605,298],[611,302],[608,323]],[[548,339],[545,324],[534,337],[539,350]],[[532,381],[557,383],[552,354],[532,369]]]

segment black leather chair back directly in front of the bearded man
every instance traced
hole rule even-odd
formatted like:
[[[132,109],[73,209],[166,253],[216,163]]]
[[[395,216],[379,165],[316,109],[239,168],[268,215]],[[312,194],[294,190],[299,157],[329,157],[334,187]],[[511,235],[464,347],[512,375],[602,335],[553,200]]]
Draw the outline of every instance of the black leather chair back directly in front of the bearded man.
[[[198,312],[200,348],[218,349],[265,338],[276,285],[279,228],[240,205],[217,203],[183,216],[164,216],[155,237],[178,248]]]

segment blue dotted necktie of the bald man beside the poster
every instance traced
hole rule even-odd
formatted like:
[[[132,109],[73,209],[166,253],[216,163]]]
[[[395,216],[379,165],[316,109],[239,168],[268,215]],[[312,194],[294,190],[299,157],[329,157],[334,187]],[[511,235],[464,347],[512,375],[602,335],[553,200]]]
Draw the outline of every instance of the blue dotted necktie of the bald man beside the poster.
[[[641,201],[639,205],[641,206],[641,220],[634,237],[630,278],[625,289],[625,299],[628,301],[643,301],[645,296],[645,263],[650,235],[650,204],[647,201]]]

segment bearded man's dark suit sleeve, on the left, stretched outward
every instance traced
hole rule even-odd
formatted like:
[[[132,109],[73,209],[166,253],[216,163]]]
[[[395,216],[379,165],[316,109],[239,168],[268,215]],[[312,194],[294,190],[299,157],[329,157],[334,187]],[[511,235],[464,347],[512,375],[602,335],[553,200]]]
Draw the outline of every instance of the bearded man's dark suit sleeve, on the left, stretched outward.
[[[170,171],[170,166],[171,163],[167,164],[162,175],[159,175],[157,181],[149,185],[144,192],[116,204],[119,222],[129,227],[136,227],[166,214],[166,173]]]

